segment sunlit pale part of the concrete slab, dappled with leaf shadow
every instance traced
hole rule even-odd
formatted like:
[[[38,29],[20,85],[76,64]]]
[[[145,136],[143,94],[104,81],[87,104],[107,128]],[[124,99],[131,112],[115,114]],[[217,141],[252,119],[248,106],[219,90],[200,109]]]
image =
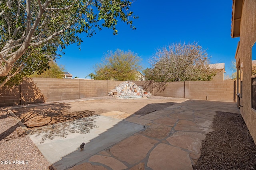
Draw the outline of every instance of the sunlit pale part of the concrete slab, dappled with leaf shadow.
[[[90,142],[120,121],[120,119],[102,115],[85,117],[75,121],[36,128],[33,131],[28,131],[28,135],[44,157],[52,164],[77,150],[81,143]],[[88,126],[88,129],[83,128],[84,126]],[[83,128],[84,131],[73,131],[76,128]]]

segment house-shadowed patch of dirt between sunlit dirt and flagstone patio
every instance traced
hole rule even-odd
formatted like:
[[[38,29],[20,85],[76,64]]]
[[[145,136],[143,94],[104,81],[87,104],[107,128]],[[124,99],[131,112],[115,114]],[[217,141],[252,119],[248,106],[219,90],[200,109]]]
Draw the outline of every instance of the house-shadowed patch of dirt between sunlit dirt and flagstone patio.
[[[135,115],[144,116],[148,113],[152,113],[154,111],[162,110],[166,107],[172,106],[174,104],[177,104],[175,102],[167,102],[167,103],[157,103],[157,104],[148,104],[144,107],[142,107],[140,110],[136,111]]]

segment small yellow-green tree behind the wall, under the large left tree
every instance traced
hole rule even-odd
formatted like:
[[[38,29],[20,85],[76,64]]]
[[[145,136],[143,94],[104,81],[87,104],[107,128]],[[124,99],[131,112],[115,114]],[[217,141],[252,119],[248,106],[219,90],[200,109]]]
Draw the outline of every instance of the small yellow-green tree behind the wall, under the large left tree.
[[[29,77],[39,77],[39,78],[63,78],[64,66],[58,66],[54,61],[49,62],[49,69],[42,73],[34,72],[34,74]]]

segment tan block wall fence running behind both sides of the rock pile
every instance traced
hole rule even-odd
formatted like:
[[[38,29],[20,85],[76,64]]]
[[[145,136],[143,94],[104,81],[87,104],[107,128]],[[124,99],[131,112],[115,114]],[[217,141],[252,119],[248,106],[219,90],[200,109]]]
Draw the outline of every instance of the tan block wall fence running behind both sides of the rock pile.
[[[113,80],[27,78],[14,88],[0,88],[0,107],[107,96],[110,90],[113,90],[122,82]],[[236,82],[234,80],[185,81],[168,82],[166,84],[152,81],[133,82],[155,96],[236,101]]]

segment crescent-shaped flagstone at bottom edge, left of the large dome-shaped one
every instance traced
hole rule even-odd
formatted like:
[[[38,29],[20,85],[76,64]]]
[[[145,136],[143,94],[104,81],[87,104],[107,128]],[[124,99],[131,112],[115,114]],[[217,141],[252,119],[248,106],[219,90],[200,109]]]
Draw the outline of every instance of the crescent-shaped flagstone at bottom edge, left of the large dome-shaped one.
[[[111,156],[94,155],[89,159],[89,161],[99,162],[101,164],[109,166],[113,170],[123,170],[127,168],[127,166],[125,166],[122,162],[116,160],[115,158],[112,158]]]

